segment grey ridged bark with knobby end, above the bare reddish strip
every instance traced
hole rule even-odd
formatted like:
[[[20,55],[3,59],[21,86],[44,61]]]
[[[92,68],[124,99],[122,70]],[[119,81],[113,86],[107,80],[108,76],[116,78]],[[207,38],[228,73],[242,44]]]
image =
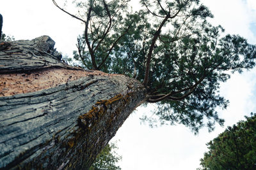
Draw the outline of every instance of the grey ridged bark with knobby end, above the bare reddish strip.
[[[41,36],[31,41],[2,43],[0,73],[20,73],[49,67],[72,68],[60,62],[61,54],[54,49],[54,45],[55,42],[49,36]]]

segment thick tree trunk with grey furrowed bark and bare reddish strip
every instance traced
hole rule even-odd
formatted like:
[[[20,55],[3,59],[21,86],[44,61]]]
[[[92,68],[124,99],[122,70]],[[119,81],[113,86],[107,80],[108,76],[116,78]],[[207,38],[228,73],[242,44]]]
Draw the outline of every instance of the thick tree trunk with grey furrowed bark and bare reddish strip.
[[[0,169],[88,169],[145,98],[119,74],[60,61],[48,36],[0,46]]]

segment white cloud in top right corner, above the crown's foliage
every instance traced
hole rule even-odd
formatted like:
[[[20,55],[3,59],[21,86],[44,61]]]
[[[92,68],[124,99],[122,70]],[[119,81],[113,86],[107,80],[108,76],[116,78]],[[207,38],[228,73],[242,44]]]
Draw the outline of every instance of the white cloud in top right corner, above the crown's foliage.
[[[252,9],[242,0],[203,0],[206,6],[214,14],[211,20],[214,25],[222,25],[226,34],[239,34],[247,38],[250,42],[255,42],[250,24],[253,20]]]

